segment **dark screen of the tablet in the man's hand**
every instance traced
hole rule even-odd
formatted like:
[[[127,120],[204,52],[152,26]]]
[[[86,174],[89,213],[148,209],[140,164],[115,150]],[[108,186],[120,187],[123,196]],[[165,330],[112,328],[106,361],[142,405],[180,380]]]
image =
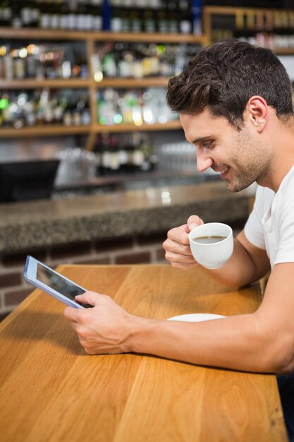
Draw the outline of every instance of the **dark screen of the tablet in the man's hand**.
[[[82,290],[80,287],[73,284],[73,282],[64,279],[61,275],[57,275],[49,270],[49,268],[43,267],[43,265],[40,265],[39,263],[37,264],[37,279],[40,282],[43,282],[43,284],[46,284],[52,289],[56,290],[56,292],[59,292],[65,297],[73,299],[74,301],[77,294],[85,293],[85,290]]]

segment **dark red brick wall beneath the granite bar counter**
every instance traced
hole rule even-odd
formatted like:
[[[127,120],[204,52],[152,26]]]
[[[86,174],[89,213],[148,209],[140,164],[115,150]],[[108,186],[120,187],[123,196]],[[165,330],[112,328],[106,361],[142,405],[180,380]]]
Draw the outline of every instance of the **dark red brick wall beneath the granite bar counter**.
[[[33,287],[23,279],[28,254],[52,268],[61,263],[142,264],[166,263],[162,243],[166,232],[107,241],[66,244],[42,250],[8,253],[0,256],[0,319],[20,304]]]

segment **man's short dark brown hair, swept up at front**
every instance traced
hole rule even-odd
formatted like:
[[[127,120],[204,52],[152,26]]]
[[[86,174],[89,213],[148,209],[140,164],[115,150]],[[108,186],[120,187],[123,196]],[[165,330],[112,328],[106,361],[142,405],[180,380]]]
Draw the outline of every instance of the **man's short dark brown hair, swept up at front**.
[[[173,111],[183,114],[207,108],[240,130],[253,95],[274,107],[278,118],[293,115],[290,78],[278,57],[270,49],[230,38],[202,49],[171,78],[166,100]]]

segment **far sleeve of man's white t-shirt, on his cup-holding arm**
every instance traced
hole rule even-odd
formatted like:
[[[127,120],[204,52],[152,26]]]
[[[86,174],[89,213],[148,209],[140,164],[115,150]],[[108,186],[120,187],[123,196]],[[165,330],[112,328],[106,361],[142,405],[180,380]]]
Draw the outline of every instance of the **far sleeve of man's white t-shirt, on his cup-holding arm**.
[[[264,189],[258,186],[253,210],[250,213],[244,227],[245,237],[255,247],[266,249],[264,242],[264,228],[262,225],[262,217],[264,215]]]

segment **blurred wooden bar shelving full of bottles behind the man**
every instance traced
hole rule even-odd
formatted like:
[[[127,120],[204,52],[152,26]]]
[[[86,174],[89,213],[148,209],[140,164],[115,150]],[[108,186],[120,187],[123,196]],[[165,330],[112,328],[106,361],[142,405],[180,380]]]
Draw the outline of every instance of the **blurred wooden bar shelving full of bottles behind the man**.
[[[59,172],[57,190],[118,189],[141,186],[140,172],[153,185],[168,179],[163,162],[178,152],[169,172],[192,179],[180,153],[185,165],[195,154],[165,102],[169,78],[191,56],[238,37],[273,49],[294,80],[291,2],[223,3],[0,1],[1,162],[58,158],[76,173]]]

